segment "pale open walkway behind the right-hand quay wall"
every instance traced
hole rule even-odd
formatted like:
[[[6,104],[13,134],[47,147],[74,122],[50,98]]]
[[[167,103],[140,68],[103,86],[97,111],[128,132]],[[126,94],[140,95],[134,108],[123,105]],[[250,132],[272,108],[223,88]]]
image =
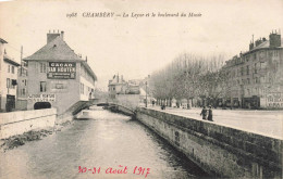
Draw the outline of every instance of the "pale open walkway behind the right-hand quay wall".
[[[148,106],[148,108],[162,111],[174,115],[201,119],[200,107],[175,108]],[[256,110],[220,110],[212,108],[213,122],[239,130],[245,130],[271,138],[283,139],[283,111],[256,111]],[[209,122],[210,123],[210,122]]]

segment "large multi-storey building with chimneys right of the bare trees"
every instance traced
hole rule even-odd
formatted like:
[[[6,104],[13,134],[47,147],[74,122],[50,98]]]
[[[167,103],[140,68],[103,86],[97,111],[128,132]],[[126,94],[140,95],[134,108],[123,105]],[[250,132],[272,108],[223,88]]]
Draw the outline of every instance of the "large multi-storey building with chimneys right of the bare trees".
[[[225,104],[244,108],[283,108],[283,46],[281,34],[259,38],[249,51],[226,61]]]

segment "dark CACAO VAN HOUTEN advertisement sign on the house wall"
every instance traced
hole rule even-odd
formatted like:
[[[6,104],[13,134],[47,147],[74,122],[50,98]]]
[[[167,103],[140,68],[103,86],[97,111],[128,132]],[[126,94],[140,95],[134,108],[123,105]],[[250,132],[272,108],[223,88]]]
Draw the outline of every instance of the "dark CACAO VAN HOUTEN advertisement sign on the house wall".
[[[47,78],[49,79],[75,79],[75,62],[49,62]]]

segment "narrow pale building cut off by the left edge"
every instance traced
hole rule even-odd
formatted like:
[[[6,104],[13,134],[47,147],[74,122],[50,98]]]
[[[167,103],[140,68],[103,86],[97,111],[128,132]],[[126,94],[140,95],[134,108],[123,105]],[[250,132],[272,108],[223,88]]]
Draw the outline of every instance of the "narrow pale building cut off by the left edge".
[[[0,111],[11,112],[15,110],[17,67],[20,66],[13,59],[7,55],[5,40],[0,38]]]

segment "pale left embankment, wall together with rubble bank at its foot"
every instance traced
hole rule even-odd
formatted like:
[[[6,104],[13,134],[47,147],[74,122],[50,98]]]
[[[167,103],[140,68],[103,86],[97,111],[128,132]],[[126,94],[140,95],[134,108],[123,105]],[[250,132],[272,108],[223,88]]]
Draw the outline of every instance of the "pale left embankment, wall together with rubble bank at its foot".
[[[17,148],[28,141],[61,131],[72,123],[70,115],[57,115],[56,108],[20,111],[0,114],[0,148]]]

